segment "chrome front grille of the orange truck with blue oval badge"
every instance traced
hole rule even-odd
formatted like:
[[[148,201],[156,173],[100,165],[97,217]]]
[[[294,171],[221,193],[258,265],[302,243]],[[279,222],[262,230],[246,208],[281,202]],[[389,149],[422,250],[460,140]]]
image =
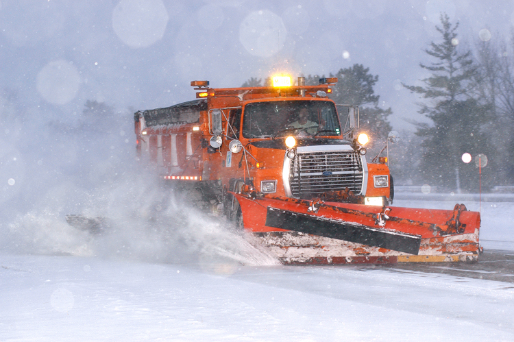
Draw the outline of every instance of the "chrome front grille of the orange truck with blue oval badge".
[[[296,154],[289,168],[293,197],[310,198],[328,191],[363,188],[363,164],[354,151],[312,151]]]

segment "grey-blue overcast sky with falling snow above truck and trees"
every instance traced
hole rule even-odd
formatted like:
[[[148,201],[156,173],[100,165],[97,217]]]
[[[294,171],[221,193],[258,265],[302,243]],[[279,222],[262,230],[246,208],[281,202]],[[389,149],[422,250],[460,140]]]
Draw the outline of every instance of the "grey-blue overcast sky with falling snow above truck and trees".
[[[73,121],[87,99],[158,108],[193,99],[191,80],[232,87],[359,63],[379,75],[393,127],[412,128],[415,95],[400,83],[426,76],[441,12],[473,47],[482,29],[509,35],[514,1],[0,0],[0,114],[13,93],[26,112]]]

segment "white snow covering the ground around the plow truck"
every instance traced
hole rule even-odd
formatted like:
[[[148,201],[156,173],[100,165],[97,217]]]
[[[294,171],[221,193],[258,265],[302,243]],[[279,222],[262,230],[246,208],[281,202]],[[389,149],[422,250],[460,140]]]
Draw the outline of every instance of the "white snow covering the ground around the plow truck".
[[[402,199],[395,205],[452,206]],[[467,206],[478,209],[475,203]],[[512,206],[482,203],[486,249],[511,241]],[[34,220],[25,219],[18,228],[51,225],[41,217]],[[208,234],[219,233],[213,229]],[[201,239],[209,236],[199,232]],[[81,236],[56,242],[78,246]],[[234,240],[221,259],[210,254],[163,262],[134,248],[136,255],[117,253],[128,242],[123,239],[82,241],[102,246],[90,249],[95,256],[28,244],[24,253],[3,251],[0,341],[514,340],[511,282],[373,265],[286,267],[272,265],[258,251],[253,259],[248,251],[243,254],[260,265],[241,266],[227,259],[239,248]],[[139,242],[149,247],[148,241]],[[221,252],[220,246],[210,253]]]

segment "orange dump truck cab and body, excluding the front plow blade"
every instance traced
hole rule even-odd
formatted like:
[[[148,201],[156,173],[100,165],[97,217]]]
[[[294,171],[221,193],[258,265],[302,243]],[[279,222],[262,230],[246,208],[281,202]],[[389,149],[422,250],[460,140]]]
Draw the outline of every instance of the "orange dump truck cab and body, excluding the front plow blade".
[[[193,81],[197,100],[134,114],[138,154],[165,180],[194,184],[234,210],[243,186],[268,196],[384,206],[389,168],[367,162],[358,108],[329,98],[336,78],[317,86],[277,77],[276,86],[210,88]]]

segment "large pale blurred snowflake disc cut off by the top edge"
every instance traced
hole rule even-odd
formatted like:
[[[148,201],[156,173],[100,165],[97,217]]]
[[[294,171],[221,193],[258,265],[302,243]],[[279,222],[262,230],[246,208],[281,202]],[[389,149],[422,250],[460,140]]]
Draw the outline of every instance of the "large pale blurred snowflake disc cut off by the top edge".
[[[121,0],[112,12],[112,28],[128,46],[149,47],[164,36],[169,16],[162,0]]]

